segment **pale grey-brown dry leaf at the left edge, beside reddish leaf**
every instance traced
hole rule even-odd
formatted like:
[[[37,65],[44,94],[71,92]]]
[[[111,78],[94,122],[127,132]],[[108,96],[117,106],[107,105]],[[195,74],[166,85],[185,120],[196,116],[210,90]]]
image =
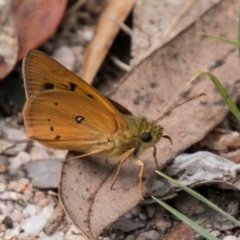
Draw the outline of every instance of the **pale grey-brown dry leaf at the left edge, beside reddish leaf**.
[[[12,71],[17,61],[18,41],[12,8],[13,0],[0,4],[0,80]]]

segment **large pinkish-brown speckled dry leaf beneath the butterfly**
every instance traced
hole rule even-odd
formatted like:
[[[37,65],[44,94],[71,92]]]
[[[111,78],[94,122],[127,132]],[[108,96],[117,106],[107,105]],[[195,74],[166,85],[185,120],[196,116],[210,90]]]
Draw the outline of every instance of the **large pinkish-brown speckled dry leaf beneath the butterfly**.
[[[158,161],[162,167],[202,139],[227,114],[227,107],[210,80],[186,86],[196,72],[212,69],[233,99],[239,95],[237,49],[197,34],[198,31],[206,31],[236,39],[237,4],[237,0],[224,0],[209,10],[194,26],[130,71],[112,96],[134,115],[156,119],[190,96],[202,92],[207,94],[161,120],[164,134],[173,140],[173,146],[165,139],[157,145]],[[140,158],[145,163],[145,194],[150,190],[156,166],[151,149]],[[70,161],[63,165],[60,198],[67,215],[89,239],[96,239],[104,227],[140,201],[138,171],[139,168],[130,161],[124,163],[115,190],[111,191],[109,188],[115,173],[113,165],[101,164],[100,161],[98,164],[97,159]]]

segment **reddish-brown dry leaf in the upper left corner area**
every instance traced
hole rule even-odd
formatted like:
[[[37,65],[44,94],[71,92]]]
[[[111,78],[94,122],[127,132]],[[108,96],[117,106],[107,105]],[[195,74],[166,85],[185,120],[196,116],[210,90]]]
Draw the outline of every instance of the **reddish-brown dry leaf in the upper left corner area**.
[[[17,0],[14,18],[18,34],[18,59],[51,37],[62,19],[67,0]]]

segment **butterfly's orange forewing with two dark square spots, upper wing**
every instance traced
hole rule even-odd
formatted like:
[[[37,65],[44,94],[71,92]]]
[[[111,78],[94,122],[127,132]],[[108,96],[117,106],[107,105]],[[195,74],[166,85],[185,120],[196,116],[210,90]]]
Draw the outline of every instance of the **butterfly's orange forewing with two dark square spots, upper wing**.
[[[83,79],[40,51],[32,50],[24,58],[23,78],[27,98],[53,89],[79,93],[104,105],[115,115],[118,126],[122,130],[127,129],[126,121],[114,104]]]

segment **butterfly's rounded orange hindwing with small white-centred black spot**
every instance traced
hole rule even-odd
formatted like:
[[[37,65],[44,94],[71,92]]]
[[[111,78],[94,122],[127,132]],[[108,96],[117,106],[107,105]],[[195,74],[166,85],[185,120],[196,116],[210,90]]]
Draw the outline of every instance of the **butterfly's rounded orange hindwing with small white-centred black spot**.
[[[31,95],[23,116],[30,138],[57,149],[86,152],[97,145],[104,148],[118,129],[115,115],[101,103],[64,90]]]

